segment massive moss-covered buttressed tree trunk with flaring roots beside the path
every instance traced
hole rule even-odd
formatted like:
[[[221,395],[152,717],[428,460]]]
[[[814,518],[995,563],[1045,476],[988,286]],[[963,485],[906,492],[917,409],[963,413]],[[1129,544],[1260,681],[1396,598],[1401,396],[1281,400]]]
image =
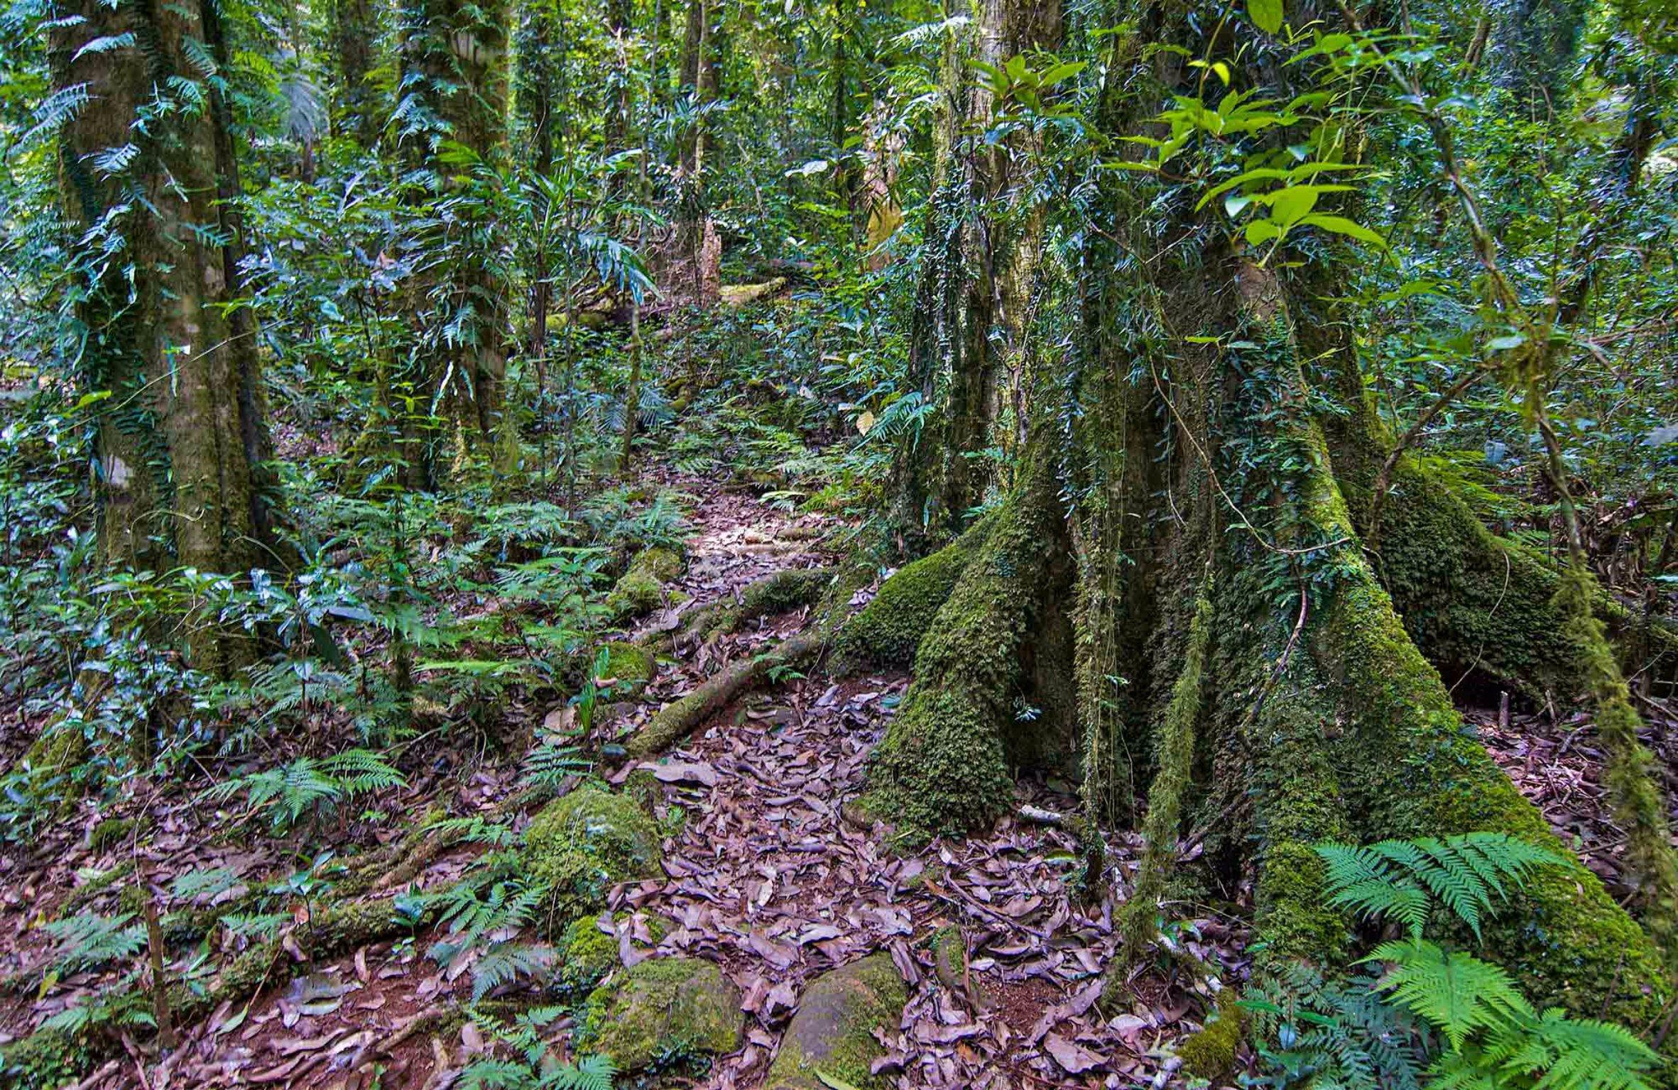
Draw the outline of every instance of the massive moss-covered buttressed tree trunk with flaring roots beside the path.
[[[1146,49],[1190,37],[1171,12],[1146,12],[1134,40],[1114,42],[1109,139],[1146,132],[1138,119],[1191,92],[1180,55]],[[1478,646],[1470,624],[1510,624],[1502,609],[1549,617],[1537,634],[1512,622],[1493,649],[1509,676],[1577,676],[1579,649],[1554,624],[1554,568],[1490,538],[1448,490],[1389,498],[1398,523],[1379,557],[1366,553],[1354,503],[1389,438],[1361,384],[1339,381],[1356,374],[1346,345],[1295,319],[1321,295],[1317,273],[1264,267],[1186,203],[1149,220],[1161,215],[1138,200],[1149,183],[1114,178],[1097,210],[1109,230],[1084,235],[1074,404],[1025,371],[1020,480],[918,624],[915,681],[866,808],[909,833],[960,832],[1014,808],[1022,768],[1082,771],[1102,817],[1141,797],[1178,812],[1149,815],[1154,867],[1175,865],[1178,837],[1196,828],[1203,877],[1252,882],[1262,968],[1332,966],[1351,921],[1326,906],[1317,842],[1497,830],[1564,850],[1465,729],[1411,632]],[[1403,491],[1416,471],[1401,465]],[[1498,585],[1406,629],[1404,604],[1433,592],[1388,572],[1389,594],[1383,568],[1394,543],[1411,547],[1411,518],[1438,528],[1413,543],[1443,553],[1426,563],[1495,567]],[[935,558],[896,579],[925,580]],[[1495,594],[1507,604],[1492,609]],[[903,597],[891,582],[881,592]],[[852,625],[891,627],[874,607]],[[1159,889],[1154,875],[1139,892]],[[1592,1018],[1648,1026],[1670,998],[1656,946],[1579,864],[1535,879],[1487,951],[1535,998]]]

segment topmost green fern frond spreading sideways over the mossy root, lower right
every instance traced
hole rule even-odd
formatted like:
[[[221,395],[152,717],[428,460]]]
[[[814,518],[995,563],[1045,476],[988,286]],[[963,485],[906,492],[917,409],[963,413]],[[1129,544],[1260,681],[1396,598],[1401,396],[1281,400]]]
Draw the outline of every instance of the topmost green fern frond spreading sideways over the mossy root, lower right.
[[[1317,845],[1327,864],[1329,904],[1364,919],[1391,919],[1421,937],[1438,899],[1480,936],[1480,921],[1539,867],[1562,864],[1549,849],[1509,833],[1460,833],[1435,840],[1383,840],[1369,847]]]

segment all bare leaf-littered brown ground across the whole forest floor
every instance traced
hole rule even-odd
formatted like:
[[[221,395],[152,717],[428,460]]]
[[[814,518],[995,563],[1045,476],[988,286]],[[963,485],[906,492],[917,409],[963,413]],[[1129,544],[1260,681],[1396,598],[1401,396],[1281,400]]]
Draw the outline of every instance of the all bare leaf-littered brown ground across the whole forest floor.
[[[691,478],[663,480],[695,496],[688,565],[675,584],[695,609],[733,595],[770,572],[831,563],[821,540],[842,530],[821,515],[787,515],[757,498]],[[866,597],[864,592],[861,597]],[[643,620],[653,636],[680,624],[680,610]],[[596,724],[599,741],[628,734],[656,709],[696,688],[742,656],[799,631],[805,612],[769,617],[700,646],[678,644],[634,703],[614,704]],[[1094,999],[1114,946],[1114,895],[1082,904],[1072,882],[1072,837],[1054,822],[1007,818],[992,832],[960,842],[936,840],[901,850],[881,827],[859,827],[846,802],[861,790],[868,753],[896,713],[908,686],[903,672],[873,672],[834,683],[790,677],[711,718],[653,765],[659,783],[656,817],[666,830],[664,877],[612,890],[597,926],[619,937],[629,959],[683,954],[715,961],[743,994],[743,1046],[722,1056],[695,1085],[762,1085],[805,986],[821,973],[868,952],[888,951],[908,981],[908,1006],[883,1035],[878,1072],[899,1087],[1136,1087],[1173,1085],[1171,1043],[1200,1026],[1215,989],[1245,978],[1247,941],[1240,921],[1205,912],[1183,922],[1178,941],[1215,969],[1215,981],[1148,969],[1131,981],[1123,1011],[1097,1015]],[[515,708],[537,721],[547,709]],[[1493,756],[1544,807],[1557,832],[1589,865],[1618,879],[1618,833],[1602,815],[1597,756],[1582,723],[1550,724],[1517,716],[1500,724],[1477,713]],[[1663,733],[1663,738],[1670,733]],[[480,766],[470,776],[448,760],[416,776],[403,810],[418,817],[436,805],[455,815],[492,815],[515,790],[517,768]],[[607,770],[624,781],[639,765]],[[1071,786],[1024,781],[1020,803],[1071,812]],[[59,981],[42,999],[39,976],[45,941],[34,927],[50,919],[89,870],[143,854],[141,867],[161,875],[191,867],[227,867],[248,884],[274,882],[294,869],[284,849],[228,842],[206,828],[193,798],[153,797],[131,808],[149,813],[144,845],[87,845],[91,820],[65,823],[32,850],[0,859],[0,1035],[20,1035],[44,1015],[109,986],[84,973]],[[403,832],[378,833],[376,847]],[[1134,837],[1114,837],[1109,860],[1134,862]],[[477,849],[433,860],[416,889],[440,889],[460,877]],[[389,892],[389,890],[384,890]],[[114,889],[112,889],[114,894]],[[114,902],[112,894],[92,904]],[[1180,906],[1186,909],[1186,906]],[[651,942],[654,917],[675,924]],[[967,966],[940,963],[935,934],[960,929]],[[309,1085],[334,1090],[451,1085],[485,1050],[485,1035],[448,1018],[470,998],[470,963],[438,968],[425,956],[428,937],[378,942],[344,958],[299,966],[295,979],[265,989],[245,1006],[223,1006],[183,1028],[164,1061],[128,1055],[102,1067],[84,1087]],[[297,951],[302,959],[302,951]],[[517,989],[517,988],[515,988]],[[550,1026],[560,1051],[572,1025]],[[3,1040],[3,1036],[0,1036]],[[680,1085],[680,1083],[678,1083]]]

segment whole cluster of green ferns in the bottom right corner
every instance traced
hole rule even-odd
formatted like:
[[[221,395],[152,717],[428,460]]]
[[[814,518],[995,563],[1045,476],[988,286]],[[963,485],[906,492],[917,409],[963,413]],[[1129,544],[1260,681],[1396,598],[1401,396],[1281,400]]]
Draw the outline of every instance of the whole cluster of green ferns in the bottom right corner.
[[[1406,937],[1349,981],[1295,966],[1260,984],[1253,1015],[1265,1087],[1646,1090],[1660,1056],[1624,1026],[1537,1010],[1507,969],[1423,937],[1443,907],[1478,937],[1490,909],[1554,852],[1503,833],[1324,843],[1329,902]]]

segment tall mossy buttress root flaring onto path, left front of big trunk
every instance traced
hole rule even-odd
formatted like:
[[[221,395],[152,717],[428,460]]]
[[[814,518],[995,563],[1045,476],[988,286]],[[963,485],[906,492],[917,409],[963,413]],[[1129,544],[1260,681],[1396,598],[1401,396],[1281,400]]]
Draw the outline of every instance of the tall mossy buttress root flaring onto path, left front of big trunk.
[[[913,835],[977,828],[1012,807],[1005,738],[1025,696],[1022,649],[1052,585],[1062,532],[1047,470],[1027,481],[992,515],[938,609],[903,711],[874,753],[864,810]]]

